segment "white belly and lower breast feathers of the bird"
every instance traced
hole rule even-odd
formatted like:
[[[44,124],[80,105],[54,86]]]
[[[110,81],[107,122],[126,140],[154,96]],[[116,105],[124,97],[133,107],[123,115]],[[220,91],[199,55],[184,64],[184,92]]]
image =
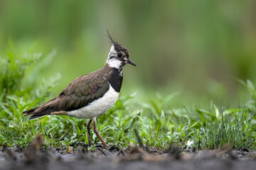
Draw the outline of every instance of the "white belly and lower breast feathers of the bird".
[[[96,101],[92,101],[89,105],[79,108],[75,111],[67,112],[67,115],[75,117],[75,118],[85,118],[92,119],[97,118],[100,115],[106,113],[117,101],[119,93],[114,91],[112,86],[110,89],[102,96],[102,98],[98,98]]]

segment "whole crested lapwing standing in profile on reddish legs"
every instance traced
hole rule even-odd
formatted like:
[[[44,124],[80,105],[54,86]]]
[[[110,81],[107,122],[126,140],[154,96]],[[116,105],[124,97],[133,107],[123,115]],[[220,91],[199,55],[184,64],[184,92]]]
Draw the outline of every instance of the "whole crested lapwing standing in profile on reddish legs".
[[[114,41],[107,30],[112,46],[105,66],[90,74],[85,74],[72,81],[52,100],[43,105],[24,111],[31,116],[29,120],[41,118],[45,115],[69,115],[75,118],[90,119],[87,123],[88,142],[91,145],[90,128],[93,120],[93,130],[102,144],[107,144],[100,136],[96,127],[96,118],[106,113],[117,101],[122,86],[122,68],[129,63],[136,64],[129,59],[129,50]]]

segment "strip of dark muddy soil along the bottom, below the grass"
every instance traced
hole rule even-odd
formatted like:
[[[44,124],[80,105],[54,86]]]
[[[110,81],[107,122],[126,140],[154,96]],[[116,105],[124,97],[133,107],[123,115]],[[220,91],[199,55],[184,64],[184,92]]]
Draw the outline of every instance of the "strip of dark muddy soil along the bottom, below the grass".
[[[215,149],[200,152],[182,151],[177,147],[157,149],[129,147],[119,149],[85,145],[43,149],[41,144],[0,147],[0,169],[255,169],[256,152],[247,149]]]

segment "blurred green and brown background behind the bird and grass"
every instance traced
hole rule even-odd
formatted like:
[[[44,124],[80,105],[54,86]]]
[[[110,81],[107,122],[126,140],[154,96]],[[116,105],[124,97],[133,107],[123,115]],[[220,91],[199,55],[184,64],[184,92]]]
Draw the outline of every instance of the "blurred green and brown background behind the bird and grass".
[[[57,95],[105,64],[108,29],[137,64],[124,67],[122,95],[137,91],[139,101],[178,92],[172,107],[237,104],[247,92],[234,78],[256,82],[255,8],[254,0],[0,0],[0,57],[10,40],[18,55],[41,52],[41,62],[54,56],[47,69],[33,65],[28,75],[40,84],[60,73]]]

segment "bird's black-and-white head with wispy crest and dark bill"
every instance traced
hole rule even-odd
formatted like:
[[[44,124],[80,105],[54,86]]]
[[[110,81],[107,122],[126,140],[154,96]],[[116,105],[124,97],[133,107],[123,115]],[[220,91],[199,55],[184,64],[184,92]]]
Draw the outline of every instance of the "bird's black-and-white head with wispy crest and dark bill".
[[[108,30],[107,37],[110,38],[112,46],[110,48],[110,53],[107,57],[106,63],[115,69],[122,69],[122,67],[124,67],[124,65],[127,63],[136,66],[136,64],[129,59],[129,50],[127,47],[124,47],[123,45],[120,45],[118,42],[114,41]]]

